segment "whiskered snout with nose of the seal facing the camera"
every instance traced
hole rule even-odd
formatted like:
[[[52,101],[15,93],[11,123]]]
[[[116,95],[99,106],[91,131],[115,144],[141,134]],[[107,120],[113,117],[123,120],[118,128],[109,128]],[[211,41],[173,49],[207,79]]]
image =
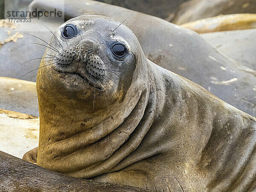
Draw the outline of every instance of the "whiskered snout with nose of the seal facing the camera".
[[[101,87],[105,76],[105,64],[98,55],[99,46],[95,41],[82,39],[73,47],[64,47],[57,56],[54,70],[70,76],[80,77],[96,87]]]

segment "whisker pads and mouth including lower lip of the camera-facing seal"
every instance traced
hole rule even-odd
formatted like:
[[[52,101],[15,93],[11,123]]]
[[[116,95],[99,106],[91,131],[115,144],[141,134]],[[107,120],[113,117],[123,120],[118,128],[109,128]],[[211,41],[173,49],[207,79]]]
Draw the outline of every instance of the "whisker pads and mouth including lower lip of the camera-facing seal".
[[[62,74],[61,79],[69,78],[73,84],[84,82],[103,90],[105,63],[93,49],[81,49],[83,42],[75,48],[65,48],[56,56],[52,69]],[[84,47],[84,46],[82,46]],[[70,84],[70,82],[67,82]]]

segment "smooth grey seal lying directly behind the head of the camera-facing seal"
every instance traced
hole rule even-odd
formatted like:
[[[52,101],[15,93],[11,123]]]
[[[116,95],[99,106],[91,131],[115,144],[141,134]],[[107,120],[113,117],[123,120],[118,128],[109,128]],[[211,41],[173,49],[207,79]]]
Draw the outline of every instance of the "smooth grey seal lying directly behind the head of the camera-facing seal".
[[[91,0],[65,0],[65,19],[104,15],[119,21],[133,11]],[[45,10],[59,1],[35,0],[29,11]],[[49,8],[50,9],[50,8]],[[197,33],[151,15],[134,12],[125,24],[137,36],[148,59],[201,85],[220,99],[256,116],[256,71],[238,64],[210,46]]]

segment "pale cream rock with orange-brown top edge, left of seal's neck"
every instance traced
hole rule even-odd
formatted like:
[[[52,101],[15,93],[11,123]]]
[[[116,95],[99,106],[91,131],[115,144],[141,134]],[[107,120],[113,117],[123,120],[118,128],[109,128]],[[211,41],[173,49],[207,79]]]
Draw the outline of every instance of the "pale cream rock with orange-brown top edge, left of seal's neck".
[[[39,118],[0,109],[0,133],[0,151],[22,158],[38,146]]]

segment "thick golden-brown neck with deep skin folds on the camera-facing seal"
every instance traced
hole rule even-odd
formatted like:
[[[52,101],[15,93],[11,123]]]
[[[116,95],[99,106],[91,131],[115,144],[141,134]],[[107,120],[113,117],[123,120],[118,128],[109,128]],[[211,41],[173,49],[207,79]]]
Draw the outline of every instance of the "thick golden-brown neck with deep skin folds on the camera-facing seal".
[[[131,94],[132,93],[132,94]],[[154,119],[155,85],[132,90],[116,112],[90,118],[79,106],[61,103],[55,113],[40,105],[39,166],[74,177],[89,178],[108,172],[141,143]],[[132,99],[131,99],[132,98]],[[86,119],[87,121],[84,121]],[[95,123],[98,120],[98,124]],[[96,124],[96,125],[95,125]]]

